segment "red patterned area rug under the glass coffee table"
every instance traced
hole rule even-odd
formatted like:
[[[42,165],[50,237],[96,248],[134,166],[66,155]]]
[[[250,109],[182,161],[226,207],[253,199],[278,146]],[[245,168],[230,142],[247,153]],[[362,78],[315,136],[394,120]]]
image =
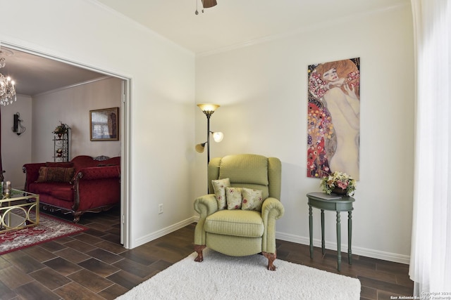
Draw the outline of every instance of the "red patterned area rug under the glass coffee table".
[[[39,214],[39,225],[35,227],[0,233],[0,255],[80,233],[87,229],[75,223]]]

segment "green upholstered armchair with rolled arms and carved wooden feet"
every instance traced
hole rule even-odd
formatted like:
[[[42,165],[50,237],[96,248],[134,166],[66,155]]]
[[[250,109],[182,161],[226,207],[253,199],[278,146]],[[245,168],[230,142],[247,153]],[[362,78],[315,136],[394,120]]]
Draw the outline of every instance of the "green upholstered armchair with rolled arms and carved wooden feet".
[[[262,253],[268,270],[276,270],[276,220],[283,216],[280,203],[280,159],[261,155],[228,155],[211,159],[208,167],[209,195],[194,200],[200,214],[194,231],[195,261],[203,261],[209,247],[230,256]],[[230,187],[262,191],[261,211],[218,209],[212,180],[230,178]]]

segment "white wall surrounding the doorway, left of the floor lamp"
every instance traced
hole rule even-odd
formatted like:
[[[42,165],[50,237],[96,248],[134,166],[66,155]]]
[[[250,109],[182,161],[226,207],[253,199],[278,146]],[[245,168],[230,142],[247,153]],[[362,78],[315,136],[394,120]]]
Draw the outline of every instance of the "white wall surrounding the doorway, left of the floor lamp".
[[[2,43],[132,79],[130,246],[192,220],[193,53],[95,1],[0,0],[0,7],[8,11]]]

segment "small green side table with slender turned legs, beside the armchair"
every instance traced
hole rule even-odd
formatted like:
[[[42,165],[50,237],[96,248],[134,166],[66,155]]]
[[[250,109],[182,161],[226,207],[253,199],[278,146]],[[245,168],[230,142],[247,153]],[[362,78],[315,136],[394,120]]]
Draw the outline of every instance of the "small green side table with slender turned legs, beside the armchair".
[[[340,212],[347,211],[347,258],[349,264],[352,264],[352,202],[355,201],[353,197],[340,195],[327,195],[326,193],[308,193],[309,204],[309,235],[310,235],[310,258],[313,259],[313,216],[311,214],[311,207],[321,209],[321,250],[325,253],[324,243],[324,210],[336,211],[337,213],[337,268],[340,270],[341,266],[341,223]]]

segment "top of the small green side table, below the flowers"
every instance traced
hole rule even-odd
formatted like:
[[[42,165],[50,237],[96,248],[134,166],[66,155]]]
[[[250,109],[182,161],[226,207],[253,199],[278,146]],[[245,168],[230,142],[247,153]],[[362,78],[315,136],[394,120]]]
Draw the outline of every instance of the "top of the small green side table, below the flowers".
[[[326,193],[308,193],[308,204],[319,209],[331,211],[352,211],[353,197]]]

